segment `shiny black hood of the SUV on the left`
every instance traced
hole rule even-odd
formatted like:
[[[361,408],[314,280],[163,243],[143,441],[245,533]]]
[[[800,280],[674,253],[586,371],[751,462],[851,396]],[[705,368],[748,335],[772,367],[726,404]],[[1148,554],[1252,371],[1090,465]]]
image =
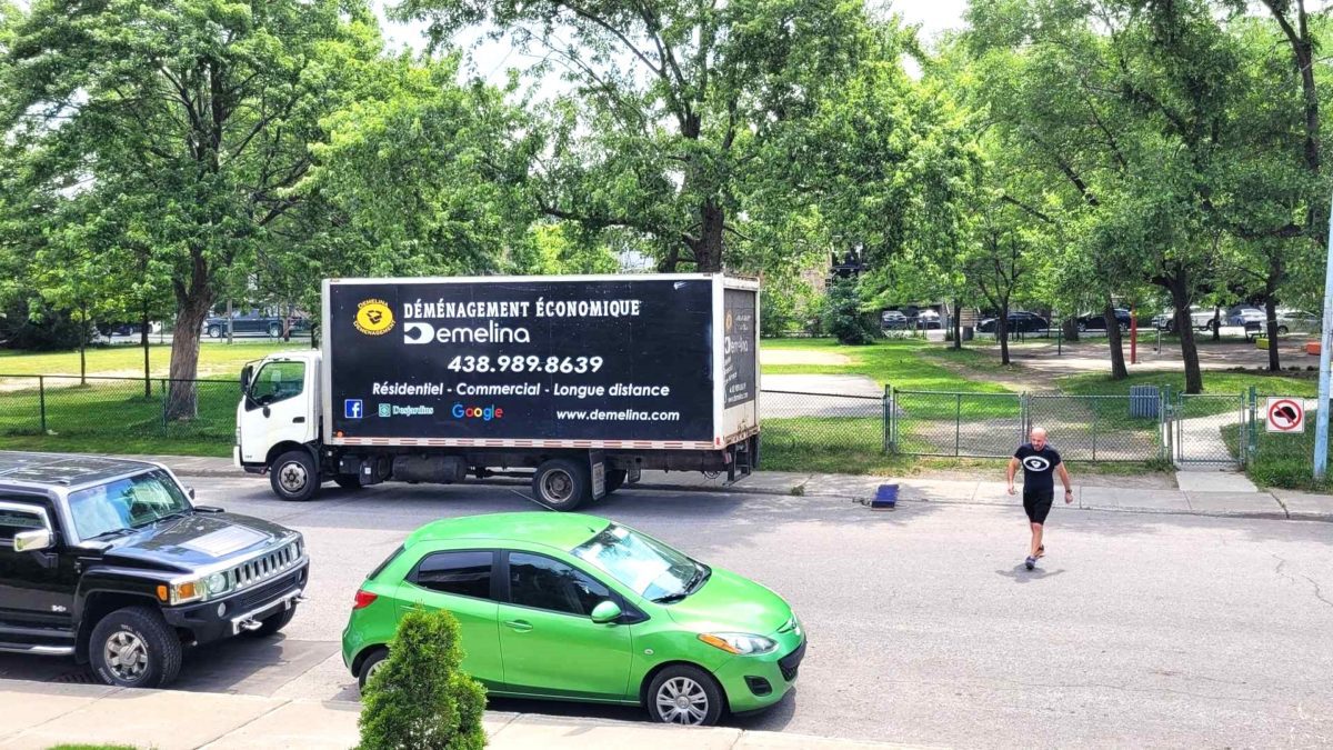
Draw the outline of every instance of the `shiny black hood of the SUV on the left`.
[[[248,515],[195,512],[113,539],[103,551],[103,559],[189,573],[295,536],[296,532],[285,526]]]

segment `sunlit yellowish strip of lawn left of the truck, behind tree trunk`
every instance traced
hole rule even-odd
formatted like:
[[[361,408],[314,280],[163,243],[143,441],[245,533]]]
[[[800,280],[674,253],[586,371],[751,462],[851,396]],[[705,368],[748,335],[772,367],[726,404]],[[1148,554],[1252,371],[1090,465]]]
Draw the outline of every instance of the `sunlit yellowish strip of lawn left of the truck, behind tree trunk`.
[[[245,342],[229,346],[205,340],[199,347],[199,376],[236,378],[247,362],[275,351],[307,347],[309,342],[304,340]],[[87,360],[88,375],[133,378],[144,372],[144,350],[136,346],[93,347],[87,351]],[[148,362],[155,378],[165,378],[171,364],[171,344],[149,344]],[[79,352],[0,350],[0,378],[5,375],[79,375]]]

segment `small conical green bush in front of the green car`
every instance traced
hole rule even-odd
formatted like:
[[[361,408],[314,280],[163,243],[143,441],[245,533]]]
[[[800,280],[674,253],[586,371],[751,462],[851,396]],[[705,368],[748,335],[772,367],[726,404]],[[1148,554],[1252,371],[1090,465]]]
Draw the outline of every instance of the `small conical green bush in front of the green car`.
[[[459,621],[447,611],[409,613],[389,658],[365,686],[363,750],[485,747],[485,689],[459,663]]]

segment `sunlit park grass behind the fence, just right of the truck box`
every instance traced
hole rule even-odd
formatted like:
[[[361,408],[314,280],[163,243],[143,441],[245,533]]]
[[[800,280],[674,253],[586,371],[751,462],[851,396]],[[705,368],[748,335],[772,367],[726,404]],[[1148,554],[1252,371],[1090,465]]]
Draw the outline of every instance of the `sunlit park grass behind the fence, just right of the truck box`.
[[[806,350],[840,354],[846,364],[764,364],[765,375],[864,375],[881,386],[912,391],[965,391],[978,394],[1009,392],[1001,384],[969,380],[966,376],[932,362],[937,342],[922,339],[889,339],[852,347],[833,339],[764,339],[760,350]]]

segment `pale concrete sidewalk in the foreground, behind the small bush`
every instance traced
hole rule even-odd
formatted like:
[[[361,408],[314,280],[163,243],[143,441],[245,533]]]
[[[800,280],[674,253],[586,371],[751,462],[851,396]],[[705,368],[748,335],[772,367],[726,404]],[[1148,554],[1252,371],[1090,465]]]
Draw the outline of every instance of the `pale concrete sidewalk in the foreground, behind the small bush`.
[[[123,690],[0,679],[0,749],[129,745],[160,750],[347,749],[359,742],[360,703],[223,693]],[[495,750],[853,750],[902,747],[732,727],[673,727],[487,711]]]

